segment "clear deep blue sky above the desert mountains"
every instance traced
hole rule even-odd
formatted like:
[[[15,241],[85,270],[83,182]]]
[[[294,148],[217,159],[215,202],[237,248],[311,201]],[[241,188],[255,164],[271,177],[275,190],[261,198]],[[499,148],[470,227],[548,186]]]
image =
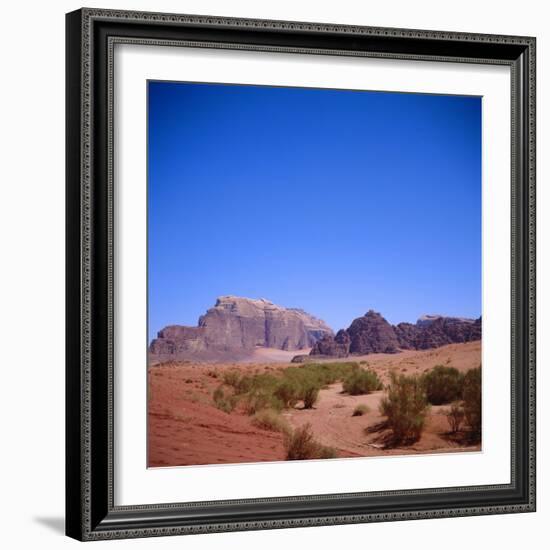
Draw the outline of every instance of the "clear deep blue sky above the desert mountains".
[[[481,314],[481,98],[148,86],[150,338],[225,294]]]

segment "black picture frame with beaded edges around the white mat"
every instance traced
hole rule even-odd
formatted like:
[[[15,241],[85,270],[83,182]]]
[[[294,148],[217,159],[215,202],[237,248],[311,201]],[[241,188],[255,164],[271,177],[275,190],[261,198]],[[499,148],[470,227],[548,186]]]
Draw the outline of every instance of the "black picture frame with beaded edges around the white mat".
[[[66,18],[67,535],[100,540],[534,511],[535,38],[103,9]],[[114,505],[112,51],[124,42],[511,68],[511,483]]]

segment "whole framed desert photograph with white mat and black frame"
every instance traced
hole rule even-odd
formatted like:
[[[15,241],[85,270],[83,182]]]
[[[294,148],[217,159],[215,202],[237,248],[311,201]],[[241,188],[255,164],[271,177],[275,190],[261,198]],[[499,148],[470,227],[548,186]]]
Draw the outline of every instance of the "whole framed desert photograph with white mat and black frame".
[[[535,39],[67,15],[67,535],[535,510]]]

